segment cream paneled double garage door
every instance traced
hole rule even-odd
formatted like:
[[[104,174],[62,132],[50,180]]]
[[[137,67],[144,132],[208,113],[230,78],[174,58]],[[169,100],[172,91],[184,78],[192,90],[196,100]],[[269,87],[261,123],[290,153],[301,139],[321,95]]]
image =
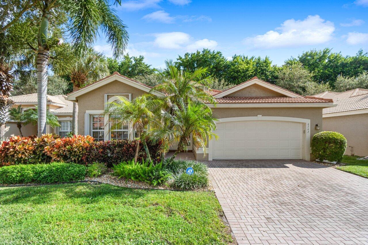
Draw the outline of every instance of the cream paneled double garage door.
[[[302,159],[302,123],[238,121],[217,123],[213,159]]]

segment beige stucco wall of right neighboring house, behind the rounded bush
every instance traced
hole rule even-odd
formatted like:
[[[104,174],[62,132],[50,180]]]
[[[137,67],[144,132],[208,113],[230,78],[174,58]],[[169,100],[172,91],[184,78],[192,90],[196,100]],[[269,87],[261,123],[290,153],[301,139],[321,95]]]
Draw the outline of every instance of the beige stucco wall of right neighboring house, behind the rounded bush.
[[[345,154],[368,156],[368,114],[323,118],[323,129],[336,131],[345,136],[347,140]]]

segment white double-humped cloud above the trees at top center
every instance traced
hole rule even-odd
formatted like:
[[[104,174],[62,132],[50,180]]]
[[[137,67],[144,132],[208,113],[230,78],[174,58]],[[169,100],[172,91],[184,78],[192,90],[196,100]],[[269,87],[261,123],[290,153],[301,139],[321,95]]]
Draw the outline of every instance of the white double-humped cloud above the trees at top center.
[[[184,32],[166,32],[155,34],[154,44],[160,48],[166,49],[184,49],[185,51],[201,50],[203,48],[215,48],[215,40],[201,39],[194,40],[188,33]]]

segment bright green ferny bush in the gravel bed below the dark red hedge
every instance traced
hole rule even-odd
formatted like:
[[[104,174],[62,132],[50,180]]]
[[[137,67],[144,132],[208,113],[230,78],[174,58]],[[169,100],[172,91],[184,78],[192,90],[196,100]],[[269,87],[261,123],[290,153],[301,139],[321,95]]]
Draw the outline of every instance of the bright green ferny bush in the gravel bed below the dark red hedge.
[[[121,162],[113,166],[114,175],[134,181],[142,181],[151,185],[163,184],[171,177],[171,173],[166,170],[163,162],[154,164],[142,160],[142,162],[134,163],[134,160]]]

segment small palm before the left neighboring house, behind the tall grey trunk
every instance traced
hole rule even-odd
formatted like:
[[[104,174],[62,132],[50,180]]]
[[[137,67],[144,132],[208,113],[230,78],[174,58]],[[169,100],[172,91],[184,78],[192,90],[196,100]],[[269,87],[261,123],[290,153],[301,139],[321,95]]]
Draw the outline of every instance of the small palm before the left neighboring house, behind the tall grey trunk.
[[[38,120],[38,112],[36,109],[25,109],[18,105],[17,107],[13,107],[9,110],[10,119],[17,123],[17,127],[20,133],[20,136],[23,137],[22,134],[22,124],[27,125],[32,123],[33,126],[37,125]],[[51,114],[49,109],[46,110],[46,125],[50,125],[51,127],[60,126],[57,116]]]

